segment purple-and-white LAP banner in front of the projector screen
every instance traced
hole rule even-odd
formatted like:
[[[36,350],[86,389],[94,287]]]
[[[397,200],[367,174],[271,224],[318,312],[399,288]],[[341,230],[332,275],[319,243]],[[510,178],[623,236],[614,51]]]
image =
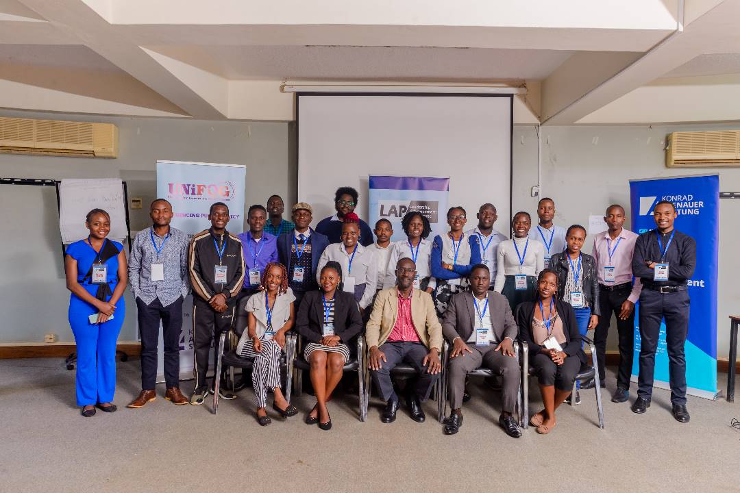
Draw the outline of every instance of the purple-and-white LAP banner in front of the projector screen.
[[[431,225],[431,235],[447,231],[447,199],[450,179],[437,177],[370,176],[369,224],[387,219],[393,225],[392,241],[406,238],[401,220],[406,213],[419,211]]]

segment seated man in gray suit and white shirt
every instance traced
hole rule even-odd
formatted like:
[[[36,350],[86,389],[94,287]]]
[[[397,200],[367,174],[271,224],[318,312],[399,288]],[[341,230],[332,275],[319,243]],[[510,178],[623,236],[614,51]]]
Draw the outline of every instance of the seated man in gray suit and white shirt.
[[[505,296],[488,290],[490,281],[488,267],[474,265],[470,273],[473,292],[454,294],[445,312],[442,330],[453,346],[448,367],[452,412],[445,421],[446,435],[454,435],[462,426],[460,407],[465,391],[465,376],[485,367],[503,378],[499,425],[510,437],[522,436],[511,417],[517,406],[520,380],[519,363],[514,357],[517,322],[511,315]]]

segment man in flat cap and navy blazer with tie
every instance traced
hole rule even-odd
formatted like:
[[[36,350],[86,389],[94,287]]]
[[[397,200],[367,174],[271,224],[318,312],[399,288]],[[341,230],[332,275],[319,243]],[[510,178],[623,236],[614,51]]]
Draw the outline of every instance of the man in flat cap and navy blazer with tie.
[[[311,205],[305,202],[293,205],[295,228],[277,239],[277,256],[288,272],[288,285],[295,296],[296,313],[303,295],[319,288],[316,282],[319,259],[329,246],[328,238],[309,227],[312,220]]]

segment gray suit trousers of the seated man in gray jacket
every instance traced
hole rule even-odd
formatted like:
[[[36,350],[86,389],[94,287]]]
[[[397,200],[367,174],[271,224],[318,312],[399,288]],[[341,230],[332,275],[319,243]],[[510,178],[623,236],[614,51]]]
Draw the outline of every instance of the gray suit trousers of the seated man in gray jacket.
[[[465,356],[450,358],[448,366],[448,392],[452,409],[462,407],[462,392],[465,391],[465,376],[480,367],[488,368],[494,375],[503,377],[502,411],[514,413],[517,409],[517,393],[519,392],[519,362],[514,356],[505,356],[501,351],[494,351],[497,344],[491,343],[487,347],[477,347],[468,342],[473,353],[463,353]]]

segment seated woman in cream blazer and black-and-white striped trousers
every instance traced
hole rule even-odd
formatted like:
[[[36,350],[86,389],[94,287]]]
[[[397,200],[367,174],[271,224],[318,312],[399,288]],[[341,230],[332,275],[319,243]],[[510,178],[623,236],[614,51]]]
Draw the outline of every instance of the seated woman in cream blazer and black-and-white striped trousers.
[[[295,296],[288,287],[288,273],[283,264],[269,263],[262,274],[260,290],[246,302],[246,331],[242,333],[236,353],[254,358],[252,389],[255,390],[257,421],[267,426],[267,392],[275,396],[272,409],[283,418],[298,413],[280,391],[280,356],[285,349],[285,335],[293,327]]]

